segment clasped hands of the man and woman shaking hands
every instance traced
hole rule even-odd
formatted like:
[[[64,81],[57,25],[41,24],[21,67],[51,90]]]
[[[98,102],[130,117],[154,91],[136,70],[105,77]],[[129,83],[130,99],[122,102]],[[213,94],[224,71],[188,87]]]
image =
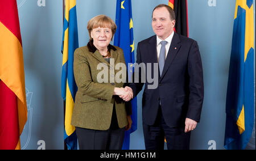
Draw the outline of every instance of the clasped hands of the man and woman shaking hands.
[[[123,99],[124,101],[130,101],[133,99],[133,90],[126,86],[125,88],[114,88],[114,95],[118,95],[119,98]]]

